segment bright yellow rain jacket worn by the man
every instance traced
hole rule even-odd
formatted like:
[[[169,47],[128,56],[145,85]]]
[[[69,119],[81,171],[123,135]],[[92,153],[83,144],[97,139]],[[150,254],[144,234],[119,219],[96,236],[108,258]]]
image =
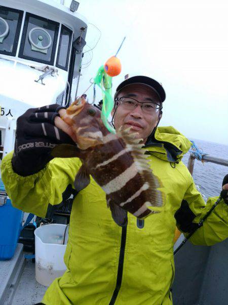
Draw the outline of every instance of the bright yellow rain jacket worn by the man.
[[[74,199],[65,253],[67,271],[54,280],[42,302],[46,305],[170,305],[174,277],[173,243],[176,223],[187,233],[210,209],[205,205],[181,157],[191,143],[173,127],[158,128],[145,145],[150,167],[164,186],[161,213],[144,221],[128,214],[126,228],[111,218],[105,193],[91,179]],[[31,176],[17,175],[12,153],[2,162],[2,179],[15,207],[41,217],[62,202],[81,166],[78,158],[55,158]],[[34,160],[35,162],[35,160]],[[228,237],[228,206],[221,201],[191,238],[213,245]]]

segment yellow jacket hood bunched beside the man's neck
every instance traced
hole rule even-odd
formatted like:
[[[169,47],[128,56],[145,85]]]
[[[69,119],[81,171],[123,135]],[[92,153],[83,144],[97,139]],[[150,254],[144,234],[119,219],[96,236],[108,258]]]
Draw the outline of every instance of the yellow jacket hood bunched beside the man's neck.
[[[158,127],[152,133],[144,148],[149,155],[169,161],[179,162],[183,155],[187,153],[192,143],[172,126]]]

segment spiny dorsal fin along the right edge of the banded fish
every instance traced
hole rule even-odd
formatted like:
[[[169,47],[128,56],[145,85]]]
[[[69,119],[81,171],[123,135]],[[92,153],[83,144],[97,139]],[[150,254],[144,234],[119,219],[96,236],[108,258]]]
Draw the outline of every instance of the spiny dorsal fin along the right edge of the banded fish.
[[[135,133],[132,134],[129,132],[130,129],[121,129],[118,133],[126,143],[126,145],[130,148],[130,153],[136,163],[138,172],[141,174],[144,181],[147,181],[149,184],[150,193],[150,202],[151,206],[162,206],[165,201],[164,194],[158,189],[162,188],[161,180],[153,174],[151,170],[147,156],[145,155],[146,150],[142,149],[144,145],[141,143],[142,139],[135,139]]]

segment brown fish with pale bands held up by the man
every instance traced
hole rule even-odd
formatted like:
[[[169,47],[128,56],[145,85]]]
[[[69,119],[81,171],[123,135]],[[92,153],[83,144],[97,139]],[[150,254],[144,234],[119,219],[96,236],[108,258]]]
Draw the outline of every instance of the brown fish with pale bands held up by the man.
[[[61,144],[54,157],[79,157],[83,163],[75,176],[77,191],[90,183],[90,175],[106,193],[113,220],[127,224],[127,212],[143,219],[163,205],[159,179],[153,175],[141,149],[140,139],[128,130],[110,133],[101,120],[101,112],[83,98],[67,109],[62,119],[71,126],[77,146]]]

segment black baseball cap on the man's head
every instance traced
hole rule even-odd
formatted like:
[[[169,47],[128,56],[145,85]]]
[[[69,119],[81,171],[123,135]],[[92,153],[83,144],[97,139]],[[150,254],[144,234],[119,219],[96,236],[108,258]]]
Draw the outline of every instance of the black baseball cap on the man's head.
[[[163,89],[163,86],[155,79],[147,77],[147,76],[133,76],[128,79],[125,79],[122,83],[119,84],[117,87],[116,93],[114,95],[114,100],[116,99],[118,93],[120,90],[122,90],[124,87],[130,85],[130,84],[144,84],[152,89],[155,90],[155,92],[160,97],[161,102],[163,103],[166,99],[166,93]]]

